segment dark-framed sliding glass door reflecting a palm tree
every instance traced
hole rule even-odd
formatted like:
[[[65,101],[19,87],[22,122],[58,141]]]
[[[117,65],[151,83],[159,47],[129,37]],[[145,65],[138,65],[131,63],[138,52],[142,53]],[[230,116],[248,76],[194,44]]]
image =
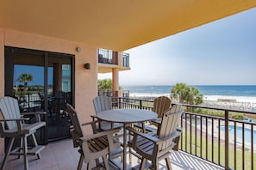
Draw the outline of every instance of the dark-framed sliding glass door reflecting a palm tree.
[[[72,104],[72,55],[5,47],[5,95],[17,98],[22,112],[47,112],[37,133],[46,144],[70,137],[64,110]],[[35,121],[31,118],[30,121]]]

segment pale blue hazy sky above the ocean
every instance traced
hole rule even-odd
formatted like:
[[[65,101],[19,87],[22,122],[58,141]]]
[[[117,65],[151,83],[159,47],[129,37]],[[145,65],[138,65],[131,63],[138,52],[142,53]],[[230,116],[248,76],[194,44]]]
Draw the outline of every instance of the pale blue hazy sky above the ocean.
[[[256,85],[256,9],[125,52],[131,70],[119,72],[121,86]]]

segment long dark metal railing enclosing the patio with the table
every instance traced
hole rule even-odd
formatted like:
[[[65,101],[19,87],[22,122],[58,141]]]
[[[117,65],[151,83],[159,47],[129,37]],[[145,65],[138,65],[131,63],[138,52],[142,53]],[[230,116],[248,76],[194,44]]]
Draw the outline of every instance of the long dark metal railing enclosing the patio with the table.
[[[113,100],[114,101],[114,100]],[[119,108],[153,109],[153,100],[118,98]],[[215,116],[199,112],[215,112]],[[256,123],[236,119],[256,112],[184,105],[179,149],[225,169],[255,169]]]

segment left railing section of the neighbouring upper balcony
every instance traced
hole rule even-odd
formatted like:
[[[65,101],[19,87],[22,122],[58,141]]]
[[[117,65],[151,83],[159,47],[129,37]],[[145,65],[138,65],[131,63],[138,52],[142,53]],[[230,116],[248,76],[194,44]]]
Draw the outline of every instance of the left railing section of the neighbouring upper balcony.
[[[98,63],[100,64],[118,64],[118,52],[111,50],[98,49]]]

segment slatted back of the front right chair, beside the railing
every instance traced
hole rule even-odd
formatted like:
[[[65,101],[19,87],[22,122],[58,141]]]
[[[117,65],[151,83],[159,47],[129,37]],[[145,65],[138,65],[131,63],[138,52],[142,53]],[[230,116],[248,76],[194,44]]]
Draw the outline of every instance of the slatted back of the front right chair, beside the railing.
[[[178,126],[179,119],[181,118],[183,112],[182,105],[174,105],[169,108],[163,115],[162,124],[159,126],[159,138],[165,138],[171,136],[176,130]],[[172,140],[167,143],[162,143],[159,146],[159,150],[165,149],[170,146]]]

